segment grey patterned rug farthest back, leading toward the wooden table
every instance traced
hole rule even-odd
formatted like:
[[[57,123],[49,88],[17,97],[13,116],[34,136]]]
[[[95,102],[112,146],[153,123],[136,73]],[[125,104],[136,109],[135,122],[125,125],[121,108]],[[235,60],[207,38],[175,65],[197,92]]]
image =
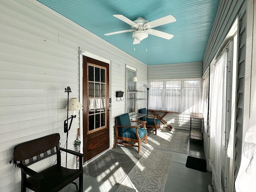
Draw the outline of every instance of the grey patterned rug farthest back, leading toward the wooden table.
[[[148,136],[148,144],[145,144],[150,149],[165,149],[175,151],[179,153],[187,153],[188,147],[188,133],[183,133],[172,129],[171,131],[167,128],[157,131]]]

